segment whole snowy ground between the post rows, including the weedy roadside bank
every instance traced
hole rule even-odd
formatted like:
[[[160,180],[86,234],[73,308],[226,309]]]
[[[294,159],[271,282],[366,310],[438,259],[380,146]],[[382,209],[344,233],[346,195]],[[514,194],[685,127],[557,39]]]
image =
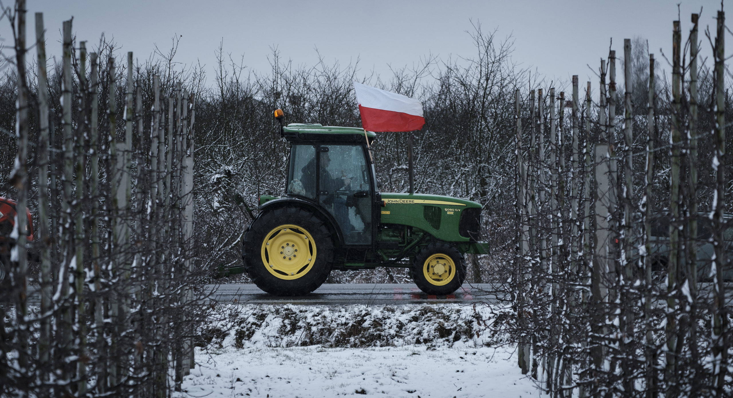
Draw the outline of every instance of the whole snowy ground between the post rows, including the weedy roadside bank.
[[[230,306],[196,348],[177,397],[539,396],[504,342],[505,311]]]

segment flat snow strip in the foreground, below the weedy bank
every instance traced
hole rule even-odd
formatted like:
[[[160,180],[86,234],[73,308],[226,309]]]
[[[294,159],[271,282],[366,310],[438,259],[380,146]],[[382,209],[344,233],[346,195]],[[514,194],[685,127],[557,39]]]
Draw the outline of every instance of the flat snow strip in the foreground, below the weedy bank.
[[[196,353],[178,397],[539,397],[504,348],[252,347]]]

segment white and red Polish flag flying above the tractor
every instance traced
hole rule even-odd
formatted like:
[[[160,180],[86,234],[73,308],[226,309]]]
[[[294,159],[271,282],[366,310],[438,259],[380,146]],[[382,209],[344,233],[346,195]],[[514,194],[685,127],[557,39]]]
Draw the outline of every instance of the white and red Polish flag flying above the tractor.
[[[420,130],[425,124],[419,100],[356,81],[354,90],[361,112],[361,125],[365,130],[412,131]]]

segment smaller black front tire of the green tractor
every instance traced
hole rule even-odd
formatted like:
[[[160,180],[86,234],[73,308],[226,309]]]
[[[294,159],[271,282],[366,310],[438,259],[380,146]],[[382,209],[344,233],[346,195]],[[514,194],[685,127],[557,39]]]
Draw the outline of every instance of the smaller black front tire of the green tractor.
[[[426,262],[430,259],[438,259],[443,263],[450,259],[453,263],[453,270],[444,271],[449,273],[450,278],[446,284],[438,285],[436,283],[441,283],[440,281],[428,280],[425,276],[424,268],[429,266]],[[415,281],[417,287],[429,295],[449,295],[460,289],[463,281],[465,281],[465,270],[466,265],[463,254],[457,248],[444,242],[430,243],[422,248],[415,257],[412,268],[410,268],[413,281]],[[454,275],[450,276],[450,273],[454,273]]]

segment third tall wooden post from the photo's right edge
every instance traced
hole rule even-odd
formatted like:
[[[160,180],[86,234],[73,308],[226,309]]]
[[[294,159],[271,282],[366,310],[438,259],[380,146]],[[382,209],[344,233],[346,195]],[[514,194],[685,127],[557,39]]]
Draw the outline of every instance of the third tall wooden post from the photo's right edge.
[[[674,353],[677,349],[677,311],[674,296],[671,294],[677,287],[677,271],[679,262],[679,146],[682,136],[679,131],[681,119],[679,117],[681,75],[680,75],[680,41],[682,34],[679,31],[679,21],[674,21],[672,32],[672,115],[671,115],[671,172],[669,198],[669,263],[667,269],[667,324],[665,327],[667,339],[666,372],[664,379],[670,386],[674,377]]]

